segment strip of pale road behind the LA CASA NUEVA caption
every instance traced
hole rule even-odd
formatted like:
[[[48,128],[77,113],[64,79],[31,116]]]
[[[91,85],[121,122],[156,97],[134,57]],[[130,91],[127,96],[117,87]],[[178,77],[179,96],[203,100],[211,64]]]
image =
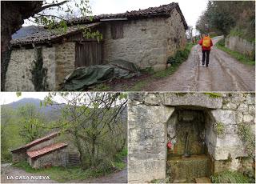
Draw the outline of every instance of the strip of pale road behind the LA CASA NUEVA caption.
[[[26,173],[11,166],[9,163],[1,164],[1,183],[52,183],[53,180],[46,178],[39,178],[40,174]]]

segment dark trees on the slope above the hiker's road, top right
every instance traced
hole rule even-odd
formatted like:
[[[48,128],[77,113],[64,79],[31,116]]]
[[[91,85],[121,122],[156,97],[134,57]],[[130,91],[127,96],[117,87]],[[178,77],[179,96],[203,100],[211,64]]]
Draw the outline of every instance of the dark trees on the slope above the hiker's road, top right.
[[[238,34],[242,38],[254,41],[255,2],[209,1],[206,11],[198,19],[196,29],[201,34]]]

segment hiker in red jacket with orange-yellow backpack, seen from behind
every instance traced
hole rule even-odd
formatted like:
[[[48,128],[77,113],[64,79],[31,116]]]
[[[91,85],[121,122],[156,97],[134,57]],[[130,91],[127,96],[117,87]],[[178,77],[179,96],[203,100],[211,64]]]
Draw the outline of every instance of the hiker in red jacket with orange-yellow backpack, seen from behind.
[[[205,65],[206,60],[206,67],[209,65],[209,57],[210,57],[210,47],[213,46],[213,42],[209,35],[203,36],[203,38],[198,42],[200,46],[202,46],[202,65]]]

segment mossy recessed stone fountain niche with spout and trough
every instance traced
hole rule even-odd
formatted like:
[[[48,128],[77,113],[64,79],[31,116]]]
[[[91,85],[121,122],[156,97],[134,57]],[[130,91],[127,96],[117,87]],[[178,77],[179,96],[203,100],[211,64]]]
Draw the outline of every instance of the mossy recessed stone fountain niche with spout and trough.
[[[166,178],[169,182],[194,182],[210,177],[206,146],[206,110],[176,108],[167,122]]]

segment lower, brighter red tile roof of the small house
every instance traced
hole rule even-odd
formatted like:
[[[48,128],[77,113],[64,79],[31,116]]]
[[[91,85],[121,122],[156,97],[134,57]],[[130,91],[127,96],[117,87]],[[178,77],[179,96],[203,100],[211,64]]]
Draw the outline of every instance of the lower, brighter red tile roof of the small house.
[[[28,154],[30,158],[36,158],[38,156],[49,154],[50,152],[52,152],[54,150],[62,149],[65,146],[67,146],[66,143],[59,142],[56,144],[52,144],[50,146],[43,147],[42,149],[39,149],[39,150],[27,151],[26,154]]]

